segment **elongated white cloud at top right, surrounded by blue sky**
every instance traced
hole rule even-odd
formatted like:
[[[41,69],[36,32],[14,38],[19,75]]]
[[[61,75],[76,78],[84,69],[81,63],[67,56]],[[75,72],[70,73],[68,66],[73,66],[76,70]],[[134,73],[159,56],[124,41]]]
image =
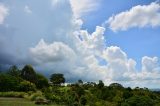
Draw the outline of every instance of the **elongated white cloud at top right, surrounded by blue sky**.
[[[106,23],[109,23],[113,31],[160,26],[160,4],[153,2],[149,5],[134,6],[130,10],[113,15]]]

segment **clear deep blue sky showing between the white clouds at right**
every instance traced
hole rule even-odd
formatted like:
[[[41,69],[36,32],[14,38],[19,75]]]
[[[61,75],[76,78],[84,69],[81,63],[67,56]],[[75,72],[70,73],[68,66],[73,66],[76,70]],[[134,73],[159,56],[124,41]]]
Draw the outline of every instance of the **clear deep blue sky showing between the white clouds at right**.
[[[84,16],[84,28],[89,32],[94,31],[96,25],[101,25],[113,14],[129,10],[137,5],[149,5],[155,0],[100,0],[101,6],[97,11]],[[109,4],[109,5],[107,5]],[[96,16],[95,16],[96,14]],[[83,19],[83,17],[82,17]],[[130,58],[137,61],[137,68],[141,67],[141,58],[143,56],[160,57],[160,27],[131,28],[127,31],[113,32],[109,28],[105,32],[107,39],[106,46],[119,46]]]

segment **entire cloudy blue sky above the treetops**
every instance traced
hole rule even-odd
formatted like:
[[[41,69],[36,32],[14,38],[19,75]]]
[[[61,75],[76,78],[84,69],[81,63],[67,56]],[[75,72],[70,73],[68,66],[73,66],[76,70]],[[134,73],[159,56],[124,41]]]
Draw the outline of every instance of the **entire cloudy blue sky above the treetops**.
[[[160,88],[159,45],[159,1],[0,0],[1,68]]]

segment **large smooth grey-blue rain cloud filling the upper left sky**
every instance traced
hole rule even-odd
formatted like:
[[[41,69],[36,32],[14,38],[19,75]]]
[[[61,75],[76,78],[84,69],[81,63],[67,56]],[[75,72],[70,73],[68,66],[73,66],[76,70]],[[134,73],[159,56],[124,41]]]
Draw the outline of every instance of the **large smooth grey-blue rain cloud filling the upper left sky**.
[[[38,2],[38,3],[37,3]],[[2,0],[8,16],[0,25],[0,64],[33,64],[28,55],[40,39],[66,42],[72,27],[72,11],[68,0],[57,6],[51,0]],[[24,9],[28,6],[32,13]]]

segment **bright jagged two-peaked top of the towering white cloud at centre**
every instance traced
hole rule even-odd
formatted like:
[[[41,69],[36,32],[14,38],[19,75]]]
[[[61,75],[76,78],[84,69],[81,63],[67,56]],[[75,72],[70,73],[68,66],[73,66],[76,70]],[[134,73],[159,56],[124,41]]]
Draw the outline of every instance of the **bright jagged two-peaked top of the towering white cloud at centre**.
[[[95,31],[91,34],[87,30],[80,30],[78,34],[81,40],[78,46],[83,50],[94,51],[95,54],[101,52],[105,47],[104,32],[105,28],[100,26],[96,26]]]

